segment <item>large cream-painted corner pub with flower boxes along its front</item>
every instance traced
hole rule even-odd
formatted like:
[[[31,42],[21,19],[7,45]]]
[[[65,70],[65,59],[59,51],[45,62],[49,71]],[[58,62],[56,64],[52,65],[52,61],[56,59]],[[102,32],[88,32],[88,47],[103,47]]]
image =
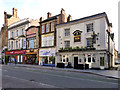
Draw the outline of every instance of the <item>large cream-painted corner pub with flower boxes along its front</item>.
[[[58,24],[57,63],[70,62],[74,68],[109,68],[113,63],[114,34],[106,13]],[[91,50],[90,50],[91,49]]]

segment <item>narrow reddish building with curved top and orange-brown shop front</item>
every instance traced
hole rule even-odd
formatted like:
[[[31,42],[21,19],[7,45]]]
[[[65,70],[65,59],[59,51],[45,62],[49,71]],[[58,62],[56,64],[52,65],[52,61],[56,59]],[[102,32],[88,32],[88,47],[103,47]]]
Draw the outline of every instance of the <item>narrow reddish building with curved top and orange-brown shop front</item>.
[[[39,26],[30,26],[26,29],[26,64],[36,64],[39,62]]]

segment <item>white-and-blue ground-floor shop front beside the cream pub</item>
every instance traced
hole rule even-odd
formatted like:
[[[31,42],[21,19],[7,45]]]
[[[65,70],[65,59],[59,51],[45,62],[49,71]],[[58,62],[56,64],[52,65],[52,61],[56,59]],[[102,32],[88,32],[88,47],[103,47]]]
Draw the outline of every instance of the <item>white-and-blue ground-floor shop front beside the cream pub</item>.
[[[39,65],[55,66],[55,48],[39,50]]]

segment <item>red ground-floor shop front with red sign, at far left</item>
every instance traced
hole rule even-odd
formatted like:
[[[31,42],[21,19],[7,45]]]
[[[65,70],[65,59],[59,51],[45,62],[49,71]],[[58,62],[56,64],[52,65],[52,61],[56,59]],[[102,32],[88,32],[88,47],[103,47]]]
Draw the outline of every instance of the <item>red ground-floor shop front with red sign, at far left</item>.
[[[8,51],[5,52],[7,63],[19,63],[25,62],[25,50]]]

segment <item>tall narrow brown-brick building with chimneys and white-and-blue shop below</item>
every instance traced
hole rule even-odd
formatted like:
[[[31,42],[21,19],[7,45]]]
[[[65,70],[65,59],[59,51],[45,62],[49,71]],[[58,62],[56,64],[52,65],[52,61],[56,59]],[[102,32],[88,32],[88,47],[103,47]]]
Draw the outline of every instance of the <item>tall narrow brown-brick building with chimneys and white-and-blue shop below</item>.
[[[56,16],[51,16],[48,12],[47,19],[40,18],[39,65],[55,66],[56,25],[66,21],[64,9],[61,9],[61,13]]]

